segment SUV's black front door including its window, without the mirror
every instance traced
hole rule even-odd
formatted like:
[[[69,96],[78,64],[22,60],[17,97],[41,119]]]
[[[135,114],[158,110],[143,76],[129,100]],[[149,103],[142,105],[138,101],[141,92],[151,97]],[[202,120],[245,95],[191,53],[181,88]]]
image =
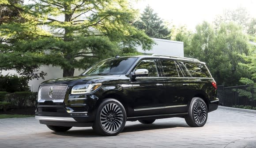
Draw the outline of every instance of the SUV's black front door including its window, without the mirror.
[[[142,59],[136,64],[134,70],[147,69],[148,75],[136,77],[132,84],[132,109],[134,116],[155,115],[155,108],[161,105],[161,96],[164,85],[159,84],[159,69],[156,59]],[[159,112],[160,113],[160,112]]]

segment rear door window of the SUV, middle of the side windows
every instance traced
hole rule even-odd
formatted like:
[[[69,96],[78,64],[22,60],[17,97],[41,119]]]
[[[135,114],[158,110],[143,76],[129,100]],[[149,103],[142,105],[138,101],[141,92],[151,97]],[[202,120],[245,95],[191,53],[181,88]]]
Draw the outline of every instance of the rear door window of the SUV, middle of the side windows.
[[[166,77],[183,77],[177,64],[173,60],[161,59],[160,61]]]

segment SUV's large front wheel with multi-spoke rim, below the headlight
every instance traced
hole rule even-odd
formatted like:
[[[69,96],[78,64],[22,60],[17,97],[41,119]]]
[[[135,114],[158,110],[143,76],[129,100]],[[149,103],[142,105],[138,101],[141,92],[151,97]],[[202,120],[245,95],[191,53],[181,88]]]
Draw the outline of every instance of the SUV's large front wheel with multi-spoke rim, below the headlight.
[[[124,130],[126,112],[124,106],[115,99],[105,99],[96,114],[93,129],[104,136],[115,136]]]

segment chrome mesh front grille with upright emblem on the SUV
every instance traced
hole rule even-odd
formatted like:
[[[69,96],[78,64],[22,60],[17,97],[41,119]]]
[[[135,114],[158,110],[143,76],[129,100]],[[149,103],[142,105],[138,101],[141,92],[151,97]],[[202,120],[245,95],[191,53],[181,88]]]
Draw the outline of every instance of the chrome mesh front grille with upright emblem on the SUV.
[[[68,85],[66,84],[42,85],[38,92],[38,102],[44,102],[45,100],[63,102],[67,89]]]

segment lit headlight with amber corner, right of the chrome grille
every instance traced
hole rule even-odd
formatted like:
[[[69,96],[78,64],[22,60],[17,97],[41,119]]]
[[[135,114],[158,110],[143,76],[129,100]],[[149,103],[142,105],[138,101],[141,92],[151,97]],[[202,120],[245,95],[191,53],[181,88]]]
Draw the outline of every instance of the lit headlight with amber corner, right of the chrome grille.
[[[102,86],[102,83],[75,85],[71,90],[71,94],[74,95],[74,94],[92,93],[97,89],[99,89],[101,86]]]

